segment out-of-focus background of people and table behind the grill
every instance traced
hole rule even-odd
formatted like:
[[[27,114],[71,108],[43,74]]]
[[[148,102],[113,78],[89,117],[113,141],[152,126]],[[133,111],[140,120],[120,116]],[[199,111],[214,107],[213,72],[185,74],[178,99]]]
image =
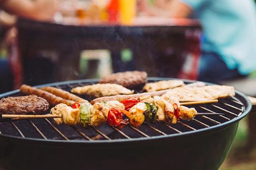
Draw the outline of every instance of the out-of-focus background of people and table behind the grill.
[[[19,5],[18,5],[19,4]],[[0,93],[140,70],[256,96],[253,0],[0,0]],[[221,170],[256,169],[256,113]]]

